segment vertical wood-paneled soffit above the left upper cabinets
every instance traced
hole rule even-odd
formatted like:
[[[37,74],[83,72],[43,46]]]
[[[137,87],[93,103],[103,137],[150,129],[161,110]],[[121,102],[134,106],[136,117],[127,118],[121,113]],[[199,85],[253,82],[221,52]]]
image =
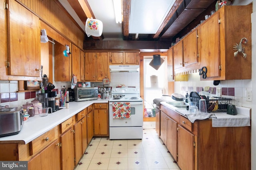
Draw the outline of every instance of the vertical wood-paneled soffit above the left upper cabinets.
[[[84,31],[66,12],[58,0],[16,0],[40,20],[83,49]],[[43,29],[43,28],[42,28]],[[47,29],[46,29],[47,32]]]

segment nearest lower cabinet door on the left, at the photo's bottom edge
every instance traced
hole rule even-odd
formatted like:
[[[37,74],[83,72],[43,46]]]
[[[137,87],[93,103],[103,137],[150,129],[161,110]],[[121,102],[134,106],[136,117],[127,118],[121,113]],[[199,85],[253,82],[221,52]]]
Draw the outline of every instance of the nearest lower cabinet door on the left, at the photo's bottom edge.
[[[60,170],[58,140],[28,161],[28,170]]]

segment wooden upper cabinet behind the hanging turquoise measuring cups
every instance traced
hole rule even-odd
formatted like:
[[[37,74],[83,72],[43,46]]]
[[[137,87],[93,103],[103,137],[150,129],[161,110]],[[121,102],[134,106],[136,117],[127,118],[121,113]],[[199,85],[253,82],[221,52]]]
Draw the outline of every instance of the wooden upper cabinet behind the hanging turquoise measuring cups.
[[[55,42],[54,45],[54,79],[55,81],[70,82],[71,77],[71,55],[65,57],[63,51],[65,45]]]

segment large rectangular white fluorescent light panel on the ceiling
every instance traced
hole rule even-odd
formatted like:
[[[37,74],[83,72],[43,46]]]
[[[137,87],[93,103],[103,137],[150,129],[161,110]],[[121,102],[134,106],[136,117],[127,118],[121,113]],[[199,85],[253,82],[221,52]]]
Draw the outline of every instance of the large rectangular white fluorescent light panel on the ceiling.
[[[155,34],[175,0],[132,0],[129,33]]]

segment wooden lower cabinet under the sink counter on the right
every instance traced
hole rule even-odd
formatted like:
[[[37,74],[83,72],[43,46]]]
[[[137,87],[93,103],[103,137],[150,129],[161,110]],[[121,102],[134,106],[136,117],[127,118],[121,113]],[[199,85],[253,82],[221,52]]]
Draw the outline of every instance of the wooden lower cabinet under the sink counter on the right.
[[[160,105],[160,138],[182,170],[250,170],[251,127],[212,127],[212,120],[191,123]],[[176,151],[176,152],[175,152]]]

